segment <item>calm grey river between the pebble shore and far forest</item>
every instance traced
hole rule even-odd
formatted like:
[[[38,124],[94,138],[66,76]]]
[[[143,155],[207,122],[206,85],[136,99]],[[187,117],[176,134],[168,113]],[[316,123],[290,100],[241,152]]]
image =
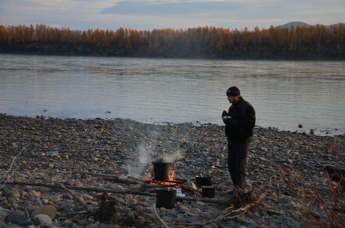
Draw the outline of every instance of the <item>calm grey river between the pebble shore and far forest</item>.
[[[345,134],[345,61],[0,54],[0,113],[8,115],[222,125],[233,85],[258,126]]]

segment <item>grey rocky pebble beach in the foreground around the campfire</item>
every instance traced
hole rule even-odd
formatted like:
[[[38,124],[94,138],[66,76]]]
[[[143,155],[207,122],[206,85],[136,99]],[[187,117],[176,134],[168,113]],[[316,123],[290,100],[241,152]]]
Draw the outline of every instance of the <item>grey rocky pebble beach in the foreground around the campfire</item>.
[[[0,228],[345,227],[344,189],[325,171],[345,169],[344,149],[344,135],[256,126],[245,191],[257,200],[234,207],[224,126],[0,114]],[[156,197],[128,178],[144,179],[157,159],[193,189],[173,209],[155,211]],[[213,177],[210,201],[200,174]]]

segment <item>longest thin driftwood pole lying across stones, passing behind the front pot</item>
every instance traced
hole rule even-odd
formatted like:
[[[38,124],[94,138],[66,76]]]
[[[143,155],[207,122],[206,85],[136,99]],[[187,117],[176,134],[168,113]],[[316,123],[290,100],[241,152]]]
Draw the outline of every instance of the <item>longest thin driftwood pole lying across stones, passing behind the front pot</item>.
[[[30,182],[7,182],[6,184],[43,186],[43,187],[48,187],[48,188],[63,189],[61,186],[57,186],[57,185],[49,185],[49,184],[41,184],[41,183],[30,183]],[[132,191],[132,190],[113,190],[113,189],[99,189],[99,188],[75,187],[75,186],[66,186],[66,188],[71,189],[71,190],[82,190],[82,191],[87,191],[87,192],[103,192],[103,193],[113,193],[113,194],[132,194],[132,195],[156,197],[155,193],[146,193],[146,192],[139,192],[139,191]],[[65,190],[65,189],[63,189],[63,190]],[[208,198],[199,198],[199,197],[181,197],[181,196],[177,196],[176,200],[201,201],[201,202],[224,204],[224,199],[208,199]]]

